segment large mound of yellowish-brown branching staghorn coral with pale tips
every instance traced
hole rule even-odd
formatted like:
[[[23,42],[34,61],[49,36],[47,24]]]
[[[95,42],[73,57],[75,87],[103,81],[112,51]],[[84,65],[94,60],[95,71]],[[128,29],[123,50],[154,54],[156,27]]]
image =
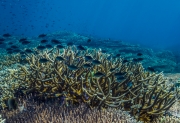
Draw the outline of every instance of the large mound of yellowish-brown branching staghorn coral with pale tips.
[[[166,85],[162,73],[150,73],[141,63],[110,58],[101,50],[63,49],[16,55],[18,69],[9,69],[1,90],[1,106],[17,90],[35,92],[40,99],[64,98],[66,105],[86,103],[90,108],[123,108],[137,120],[150,121],[162,116],[176,101],[178,91]],[[13,60],[15,61],[15,60]],[[11,83],[11,84],[10,84]]]

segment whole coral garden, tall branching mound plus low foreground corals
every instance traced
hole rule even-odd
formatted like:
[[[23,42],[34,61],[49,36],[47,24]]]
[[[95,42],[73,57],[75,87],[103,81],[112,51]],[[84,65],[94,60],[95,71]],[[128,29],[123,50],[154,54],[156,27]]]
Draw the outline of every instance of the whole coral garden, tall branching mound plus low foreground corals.
[[[178,122],[165,117],[179,99],[176,83],[138,61],[56,45],[1,55],[0,64],[0,113],[9,123]]]

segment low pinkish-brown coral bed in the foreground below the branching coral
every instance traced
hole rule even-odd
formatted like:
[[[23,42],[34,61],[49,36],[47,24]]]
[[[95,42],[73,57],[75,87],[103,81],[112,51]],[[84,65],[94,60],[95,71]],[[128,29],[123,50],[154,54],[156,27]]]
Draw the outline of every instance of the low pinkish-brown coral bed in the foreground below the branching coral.
[[[2,115],[7,119],[6,123],[141,123],[120,109],[90,109],[85,104],[60,106],[57,100],[53,105],[52,101],[38,104],[30,101],[31,98],[33,96],[23,100],[23,110],[4,110]]]

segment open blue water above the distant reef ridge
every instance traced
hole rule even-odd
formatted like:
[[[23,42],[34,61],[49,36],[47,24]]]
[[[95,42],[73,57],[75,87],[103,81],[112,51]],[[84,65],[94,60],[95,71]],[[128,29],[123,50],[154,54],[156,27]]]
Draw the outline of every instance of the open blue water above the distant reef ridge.
[[[1,0],[0,34],[67,30],[178,52],[179,6],[179,0]]]

